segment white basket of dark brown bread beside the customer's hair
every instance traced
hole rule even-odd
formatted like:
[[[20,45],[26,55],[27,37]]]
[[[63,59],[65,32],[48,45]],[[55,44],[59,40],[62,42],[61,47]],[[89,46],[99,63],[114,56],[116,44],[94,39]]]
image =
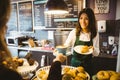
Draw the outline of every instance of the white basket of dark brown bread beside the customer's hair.
[[[13,62],[16,63],[16,71],[21,74],[22,77],[28,76],[29,73],[36,70],[38,62],[34,60],[30,53],[24,58],[13,57]]]

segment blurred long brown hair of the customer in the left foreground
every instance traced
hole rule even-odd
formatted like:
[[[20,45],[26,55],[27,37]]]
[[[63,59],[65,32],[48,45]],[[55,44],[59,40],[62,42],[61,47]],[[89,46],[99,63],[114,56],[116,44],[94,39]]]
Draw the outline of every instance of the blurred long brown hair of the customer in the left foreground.
[[[11,53],[7,48],[4,37],[6,34],[7,22],[9,20],[10,13],[10,0],[0,0],[0,65],[2,65],[3,61],[10,62],[12,60]]]

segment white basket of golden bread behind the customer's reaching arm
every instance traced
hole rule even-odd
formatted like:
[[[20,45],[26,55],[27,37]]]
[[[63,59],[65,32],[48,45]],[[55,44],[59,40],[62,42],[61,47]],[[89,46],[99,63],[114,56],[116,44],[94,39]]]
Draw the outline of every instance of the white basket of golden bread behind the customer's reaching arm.
[[[40,68],[36,71],[38,80],[47,80],[50,66]],[[90,80],[89,74],[83,67],[72,67],[62,65],[62,80]]]

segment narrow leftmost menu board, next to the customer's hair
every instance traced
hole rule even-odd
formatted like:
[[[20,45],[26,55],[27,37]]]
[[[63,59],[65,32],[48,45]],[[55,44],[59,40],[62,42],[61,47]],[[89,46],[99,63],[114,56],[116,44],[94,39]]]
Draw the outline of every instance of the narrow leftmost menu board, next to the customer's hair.
[[[11,15],[10,15],[10,19],[7,23],[8,29],[7,32],[9,31],[17,31],[18,29],[18,24],[17,24],[17,4],[14,3],[11,5]]]

